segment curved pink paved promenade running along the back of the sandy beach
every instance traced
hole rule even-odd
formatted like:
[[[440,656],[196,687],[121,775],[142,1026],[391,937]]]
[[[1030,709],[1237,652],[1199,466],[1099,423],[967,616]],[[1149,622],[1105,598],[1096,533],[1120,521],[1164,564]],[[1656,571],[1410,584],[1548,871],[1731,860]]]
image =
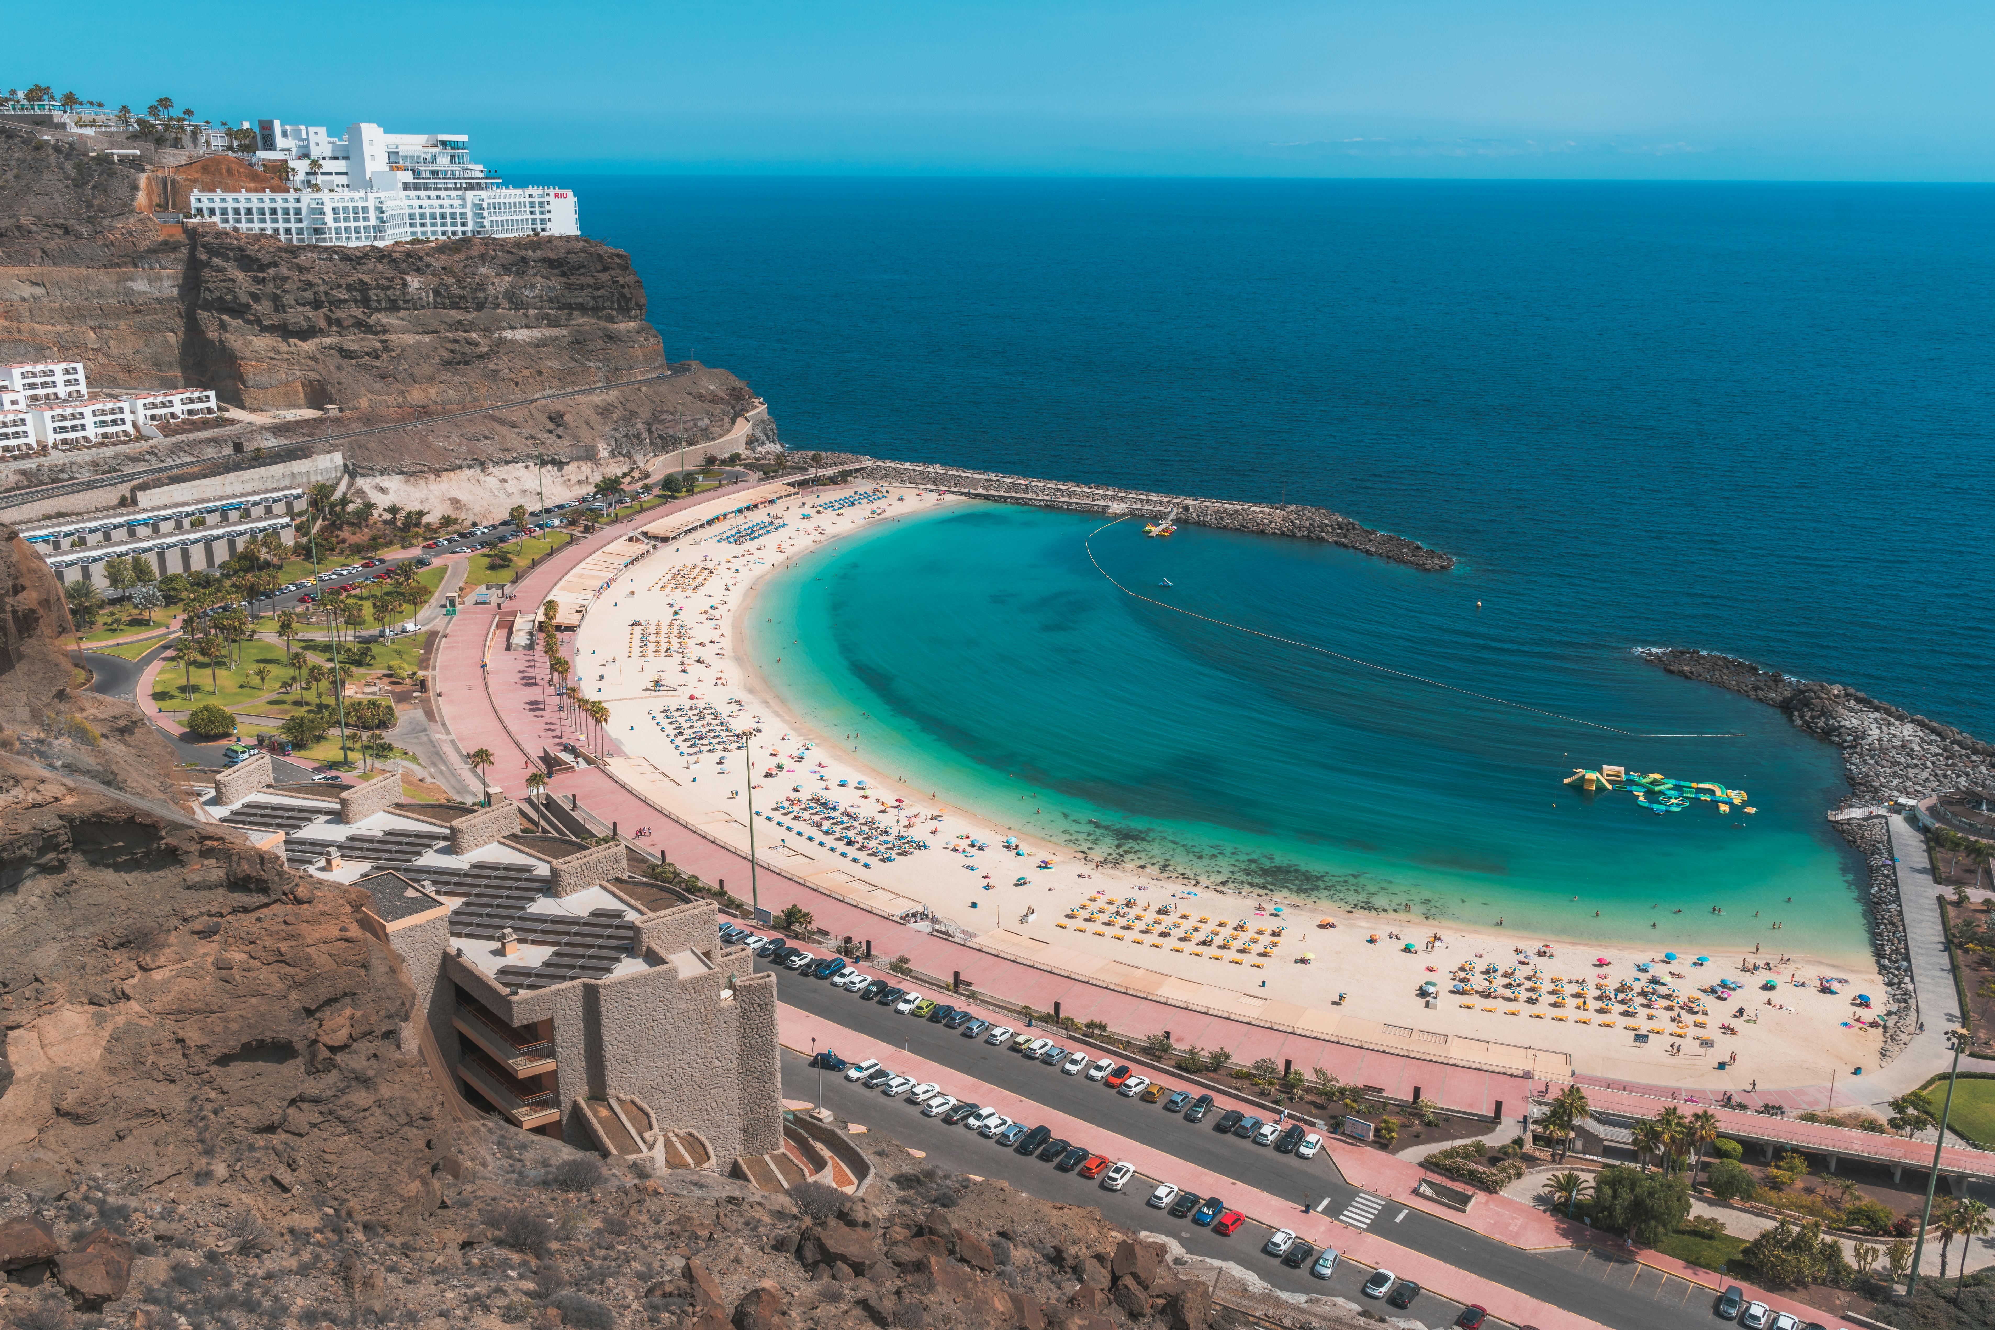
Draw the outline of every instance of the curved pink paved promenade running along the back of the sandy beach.
[[[646,520],[656,520],[660,512],[678,506],[708,500],[712,500],[712,493],[654,508]],[[628,522],[618,522],[614,528],[563,550],[521,582],[511,604],[531,614],[569,568],[602,544],[628,534],[626,526]],[[563,724],[559,706],[545,686],[537,652],[507,652],[503,644],[497,644],[491,652],[491,668],[481,670],[485,640],[499,608],[493,604],[459,610],[437,652],[435,674],[441,688],[439,704],[457,746],[463,752],[489,748],[499,758],[489,772],[491,782],[501,786],[509,798],[523,800],[527,798],[527,774],[533,770],[531,758],[537,758],[543,748],[559,746],[563,738],[573,738],[573,732]],[[479,678],[481,674],[487,678]],[[602,822],[614,822],[626,837],[634,837],[632,833],[640,826],[648,826],[652,833],[638,841],[646,849],[664,853],[672,863],[704,881],[724,881],[728,891],[748,899],[748,861],[744,855],[672,822],[604,772],[587,768],[557,776],[549,782],[549,792],[561,798],[577,796],[583,808]],[[1462,1113],[1496,1113],[1498,1105],[1506,1115],[1524,1111],[1530,1087],[1524,1077],[1355,1049],[1093,987],[884,919],[768,867],[758,871],[758,885],[760,903],[770,911],[782,911],[792,903],[802,905],[816,917],[818,927],[834,935],[870,939],[874,951],[884,951],[888,957],[904,953],[916,969],[930,975],[948,977],[962,971],[966,983],[998,993],[1011,1003],[1031,1005],[1039,1011],[1051,1011],[1059,1003],[1061,1015],[1107,1021],[1109,1029],[1129,1035],[1171,1031],[1171,1039],[1179,1047],[1225,1047],[1233,1053],[1235,1063],[1273,1057],[1275,1061],[1293,1061],[1305,1071],[1323,1067],[1339,1081],[1377,1087],[1398,1099],[1412,1099],[1418,1091],[1444,1109]]]

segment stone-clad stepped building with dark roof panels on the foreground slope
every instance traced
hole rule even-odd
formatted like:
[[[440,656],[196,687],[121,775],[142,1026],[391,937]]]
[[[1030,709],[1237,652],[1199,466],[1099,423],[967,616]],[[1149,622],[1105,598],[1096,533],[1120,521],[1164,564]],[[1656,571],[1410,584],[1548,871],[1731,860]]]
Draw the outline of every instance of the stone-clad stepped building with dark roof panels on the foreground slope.
[[[521,830],[515,804],[407,804],[401,776],[267,786],[257,756],[205,812],[373,899],[417,991],[409,1039],[477,1109],[672,1166],[782,1151],[776,983],[712,901],[628,873],[620,843]]]

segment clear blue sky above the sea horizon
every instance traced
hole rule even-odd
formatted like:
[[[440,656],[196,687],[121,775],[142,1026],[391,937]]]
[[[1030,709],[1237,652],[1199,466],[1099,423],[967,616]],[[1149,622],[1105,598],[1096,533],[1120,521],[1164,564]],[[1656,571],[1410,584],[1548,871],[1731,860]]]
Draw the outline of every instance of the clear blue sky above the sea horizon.
[[[18,24],[0,82],[501,167],[1995,179],[1995,4],[736,0]]]

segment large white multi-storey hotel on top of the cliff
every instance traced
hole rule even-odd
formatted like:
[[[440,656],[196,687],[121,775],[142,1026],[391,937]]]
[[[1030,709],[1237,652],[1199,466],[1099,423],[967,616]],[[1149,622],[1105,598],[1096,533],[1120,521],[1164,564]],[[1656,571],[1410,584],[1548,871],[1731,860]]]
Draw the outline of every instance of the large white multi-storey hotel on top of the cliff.
[[[243,126],[247,128],[247,126]],[[459,235],[581,235],[573,189],[513,187],[471,160],[463,134],[387,134],[257,122],[261,162],[285,162],[289,193],[198,191],[194,217],[287,245],[391,245]]]

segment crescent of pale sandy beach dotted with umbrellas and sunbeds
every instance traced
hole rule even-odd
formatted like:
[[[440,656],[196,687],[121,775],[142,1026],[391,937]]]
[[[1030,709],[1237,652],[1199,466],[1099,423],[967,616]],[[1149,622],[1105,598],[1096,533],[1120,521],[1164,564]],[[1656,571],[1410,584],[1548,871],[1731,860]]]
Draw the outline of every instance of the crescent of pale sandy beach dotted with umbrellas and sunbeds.
[[[1744,945],[1670,959],[1195,887],[1019,835],[948,792],[872,770],[842,736],[808,732],[778,700],[780,660],[764,680],[744,652],[762,578],[820,544],[962,502],[810,491],[680,536],[618,574],[573,648],[585,694],[610,708],[622,748],[610,774],[742,851],[752,798],[760,863],[888,917],[938,915],[980,947],[1095,983],[1550,1079],[1578,1071],[1718,1097],[1833,1073],[1849,1103],[1875,1099],[1853,1077],[1877,1073],[1873,1013],[1851,1005],[1885,993],[1869,963]],[[744,770],[730,732],[746,726],[756,738]],[[1738,987],[1704,991],[1720,981]]]

